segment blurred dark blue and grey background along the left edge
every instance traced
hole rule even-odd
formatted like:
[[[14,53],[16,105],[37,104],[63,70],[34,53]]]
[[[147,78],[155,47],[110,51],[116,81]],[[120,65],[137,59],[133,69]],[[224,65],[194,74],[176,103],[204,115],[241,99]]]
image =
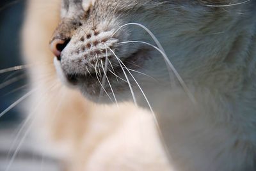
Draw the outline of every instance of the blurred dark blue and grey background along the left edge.
[[[28,128],[22,129],[28,124],[22,122],[21,105],[1,117],[4,110],[29,91],[26,69],[3,72],[24,64],[20,34],[25,6],[26,0],[0,1],[0,171],[56,171],[58,162],[36,151],[36,144],[24,131]]]

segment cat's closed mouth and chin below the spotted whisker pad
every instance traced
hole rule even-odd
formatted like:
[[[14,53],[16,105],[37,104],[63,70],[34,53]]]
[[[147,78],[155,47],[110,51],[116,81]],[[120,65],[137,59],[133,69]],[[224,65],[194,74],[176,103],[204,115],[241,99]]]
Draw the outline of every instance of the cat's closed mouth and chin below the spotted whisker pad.
[[[143,66],[143,63],[148,57],[150,57],[148,49],[140,48],[124,59],[110,56],[109,60],[115,61],[115,64],[108,64],[108,70],[106,71],[103,70],[104,67],[102,66],[100,70],[93,69],[93,71],[87,71],[84,74],[65,73],[61,68],[60,61],[56,57],[54,58],[54,65],[59,78],[65,85],[68,85],[68,87],[78,87],[86,95],[99,96],[104,77],[108,77],[108,81],[114,84],[116,86],[115,88],[122,89],[122,86],[124,85],[125,87],[125,84],[127,84],[127,78],[125,78],[124,72],[129,75],[129,71],[127,70],[138,70],[138,68]],[[104,91],[110,92],[108,83],[104,88]]]

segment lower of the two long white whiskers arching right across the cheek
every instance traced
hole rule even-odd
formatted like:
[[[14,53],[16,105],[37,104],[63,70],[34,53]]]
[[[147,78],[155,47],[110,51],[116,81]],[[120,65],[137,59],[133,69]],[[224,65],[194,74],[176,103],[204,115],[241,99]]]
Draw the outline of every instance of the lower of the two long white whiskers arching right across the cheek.
[[[170,68],[172,69],[173,73],[175,74],[175,76],[178,78],[180,84],[182,85],[184,91],[186,91],[186,93],[188,94],[189,98],[191,101],[193,101],[193,103],[196,104],[196,100],[195,100],[195,97],[193,96],[193,94],[189,91],[186,83],[184,82],[184,80],[180,77],[179,73],[177,72],[177,70],[174,68],[173,64],[171,63],[171,61],[168,59],[168,57],[166,56],[166,54],[164,54],[164,52],[162,52],[159,48],[157,48],[156,46],[154,45],[151,45],[150,43],[147,43],[147,42],[144,42],[144,41],[123,41],[123,42],[120,42],[120,44],[123,44],[123,43],[143,43],[143,44],[146,44],[146,45],[149,45],[150,47],[154,47],[156,48],[156,50],[158,50],[162,56],[164,57],[164,61],[166,61],[166,63],[168,63],[168,65],[170,66]]]

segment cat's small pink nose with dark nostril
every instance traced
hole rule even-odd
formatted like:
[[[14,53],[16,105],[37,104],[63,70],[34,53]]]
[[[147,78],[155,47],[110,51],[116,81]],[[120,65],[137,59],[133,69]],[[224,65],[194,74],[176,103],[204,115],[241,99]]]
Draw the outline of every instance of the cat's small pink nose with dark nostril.
[[[51,51],[60,60],[60,54],[61,51],[67,46],[68,41],[67,40],[61,40],[61,39],[54,39],[51,42]]]

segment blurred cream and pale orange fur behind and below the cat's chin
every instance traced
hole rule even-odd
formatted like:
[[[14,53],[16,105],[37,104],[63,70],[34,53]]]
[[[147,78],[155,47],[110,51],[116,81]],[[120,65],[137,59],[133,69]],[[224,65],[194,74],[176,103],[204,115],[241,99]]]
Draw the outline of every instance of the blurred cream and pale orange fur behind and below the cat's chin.
[[[49,48],[60,6],[60,0],[28,1],[22,29],[35,90],[24,112],[37,149],[59,158],[60,170],[172,170],[150,112],[127,102],[95,105],[61,84]]]

